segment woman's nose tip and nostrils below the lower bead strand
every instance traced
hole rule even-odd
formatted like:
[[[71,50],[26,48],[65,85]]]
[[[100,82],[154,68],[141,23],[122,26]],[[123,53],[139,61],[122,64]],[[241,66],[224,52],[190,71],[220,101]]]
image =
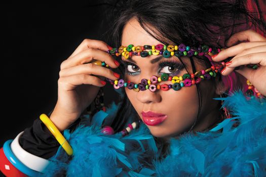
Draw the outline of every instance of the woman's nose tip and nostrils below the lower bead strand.
[[[151,92],[149,90],[139,91],[137,93],[137,100],[141,103],[159,103],[162,100],[160,91]]]

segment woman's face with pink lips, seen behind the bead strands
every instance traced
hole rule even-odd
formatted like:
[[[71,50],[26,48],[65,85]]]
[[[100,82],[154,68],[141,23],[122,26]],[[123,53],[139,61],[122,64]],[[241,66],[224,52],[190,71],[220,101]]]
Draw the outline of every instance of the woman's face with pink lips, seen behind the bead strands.
[[[159,43],[161,42],[150,36],[135,18],[128,21],[124,27],[122,46],[128,46],[130,44],[134,46],[152,46]],[[122,56],[122,60],[126,62],[127,65],[125,80],[139,83],[142,78],[150,79],[153,75],[160,77],[160,73],[162,72],[169,73],[170,76],[182,76],[184,73],[187,73],[177,57],[162,57],[159,61],[154,61],[155,58],[160,56],[161,55],[151,55],[145,58],[132,56],[132,60],[125,59]],[[184,58],[182,61],[186,65],[188,73],[192,73],[189,58]],[[194,63],[197,71],[207,69],[201,66],[196,60],[194,60]],[[171,81],[160,82],[160,84],[163,83],[172,84]],[[215,95],[214,85],[210,80],[204,80],[200,82],[200,84],[202,89],[203,108],[200,118],[193,128],[193,130],[197,131],[208,128],[218,117],[218,101],[212,100],[212,98],[217,96]],[[131,104],[138,113],[138,116],[155,137],[175,137],[189,130],[196,121],[199,107],[196,85],[183,87],[179,91],[170,89],[168,91],[159,90],[150,92],[146,90],[135,92],[128,88],[126,88],[125,91]],[[164,120],[159,124],[152,125],[152,122],[155,122],[154,120],[158,118],[148,118],[150,115],[142,115],[143,112],[148,111],[164,114],[165,116],[161,116]],[[148,119],[149,123],[147,123]]]

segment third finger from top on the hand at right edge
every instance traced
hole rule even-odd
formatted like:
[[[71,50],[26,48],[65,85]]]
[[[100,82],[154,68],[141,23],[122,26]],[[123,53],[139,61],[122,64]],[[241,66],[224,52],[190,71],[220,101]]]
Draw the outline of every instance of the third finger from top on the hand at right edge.
[[[228,68],[235,68],[241,65],[260,64],[266,66],[266,52],[252,53],[240,56],[231,60],[231,64],[227,65]]]

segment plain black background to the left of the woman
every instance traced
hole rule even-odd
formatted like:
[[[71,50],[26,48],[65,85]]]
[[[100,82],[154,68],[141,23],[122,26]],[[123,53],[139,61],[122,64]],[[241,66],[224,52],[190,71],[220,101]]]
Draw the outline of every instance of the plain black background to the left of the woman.
[[[54,108],[60,64],[85,38],[107,42],[111,11],[99,3],[1,5],[0,147]],[[108,104],[115,91],[104,92]]]

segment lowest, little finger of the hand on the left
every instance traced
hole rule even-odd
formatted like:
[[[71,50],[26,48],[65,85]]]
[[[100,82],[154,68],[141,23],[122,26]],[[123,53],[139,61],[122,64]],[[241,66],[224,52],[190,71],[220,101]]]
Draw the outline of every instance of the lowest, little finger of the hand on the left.
[[[67,77],[60,77],[58,79],[58,84],[63,86],[63,88],[66,91],[71,91],[75,89],[75,87],[77,87],[78,85],[90,84],[95,86],[104,86],[106,82],[99,79],[96,76],[87,75],[87,74],[78,74],[78,75],[70,75]]]

